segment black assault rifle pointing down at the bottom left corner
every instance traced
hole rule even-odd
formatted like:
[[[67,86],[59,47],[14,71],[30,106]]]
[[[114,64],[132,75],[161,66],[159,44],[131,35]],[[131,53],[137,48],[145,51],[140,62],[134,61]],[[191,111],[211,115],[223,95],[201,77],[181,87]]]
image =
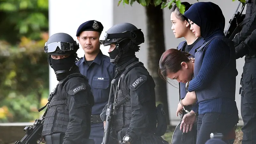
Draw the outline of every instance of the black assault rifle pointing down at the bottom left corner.
[[[16,141],[15,144],[38,144],[42,139],[44,117],[42,119],[36,119],[33,126],[26,126],[24,128],[25,136]]]

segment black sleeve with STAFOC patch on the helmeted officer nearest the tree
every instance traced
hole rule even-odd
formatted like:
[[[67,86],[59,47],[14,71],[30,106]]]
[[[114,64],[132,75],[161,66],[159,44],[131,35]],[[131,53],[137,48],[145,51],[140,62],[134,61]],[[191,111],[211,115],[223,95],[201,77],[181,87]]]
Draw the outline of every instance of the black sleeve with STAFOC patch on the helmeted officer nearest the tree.
[[[131,96],[132,118],[126,135],[136,141],[143,133],[148,133],[150,127],[156,125],[156,121],[152,123],[152,119],[156,119],[155,83],[151,81],[152,77],[141,73],[139,69],[130,72],[126,84]]]

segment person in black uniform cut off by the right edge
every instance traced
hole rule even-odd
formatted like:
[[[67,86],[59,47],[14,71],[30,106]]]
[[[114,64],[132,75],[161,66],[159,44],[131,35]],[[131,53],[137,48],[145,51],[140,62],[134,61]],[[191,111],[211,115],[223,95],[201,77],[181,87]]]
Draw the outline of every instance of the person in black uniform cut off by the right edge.
[[[233,39],[236,46],[236,59],[245,56],[240,82],[242,87],[239,90],[244,121],[242,144],[254,144],[256,143],[256,0],[247,2],[242,23],[246,24]]]

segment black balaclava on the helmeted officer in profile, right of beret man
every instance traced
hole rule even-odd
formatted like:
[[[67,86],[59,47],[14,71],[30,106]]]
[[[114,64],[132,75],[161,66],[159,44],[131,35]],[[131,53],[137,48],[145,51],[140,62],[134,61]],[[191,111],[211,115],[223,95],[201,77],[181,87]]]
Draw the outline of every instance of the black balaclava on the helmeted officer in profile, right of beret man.
[[[128,46],[127,44],[130,42],[129,39],[126,39],[119,43],[119,49],[124,49],[125,46]],[[133,47],[136,47],[135,45],[131,45]],[[137,46],[138,47],[138,46]],[[112,52],[108,52],[110,59],[114,60],[119,53],[118,49],[114,49]],[[122,65],[126,63],[127,61],[131,60],[132,58],[135,58],[135,51],[129,47],[128,50],[126,49],[125,52],[120,56],[120,59],[117,61],[117,65]]]

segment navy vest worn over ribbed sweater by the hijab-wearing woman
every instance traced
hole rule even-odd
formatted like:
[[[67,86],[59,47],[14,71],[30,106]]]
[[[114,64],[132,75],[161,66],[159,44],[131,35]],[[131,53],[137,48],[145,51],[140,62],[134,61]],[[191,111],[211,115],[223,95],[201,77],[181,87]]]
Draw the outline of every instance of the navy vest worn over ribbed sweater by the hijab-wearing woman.
[[[235,47],[232,46],[234,44],[233,41],[228,40],[228,38],[224,36],[217,36],[217,38],[222,39],[228,44],[231,49],[231,60],[227,64],[227,66],[221,69],[212,82],[209,82],[207,86],[202,90],[196,91],[196,97],[198,102],[204,100],[211,100],[214,98],[230,98],[235,100],[235,92],[236,92],[236,58],[235,58]],[[210,41],[205,42],[201,47],[196,49],[195,54],[195,68],[194,68],[194,76],[196,77],[200,71],[200,68],[203,63],[204,53],[206,51],[205,45],[209,44]],[[235,73],[236,71],[236,73]]]

